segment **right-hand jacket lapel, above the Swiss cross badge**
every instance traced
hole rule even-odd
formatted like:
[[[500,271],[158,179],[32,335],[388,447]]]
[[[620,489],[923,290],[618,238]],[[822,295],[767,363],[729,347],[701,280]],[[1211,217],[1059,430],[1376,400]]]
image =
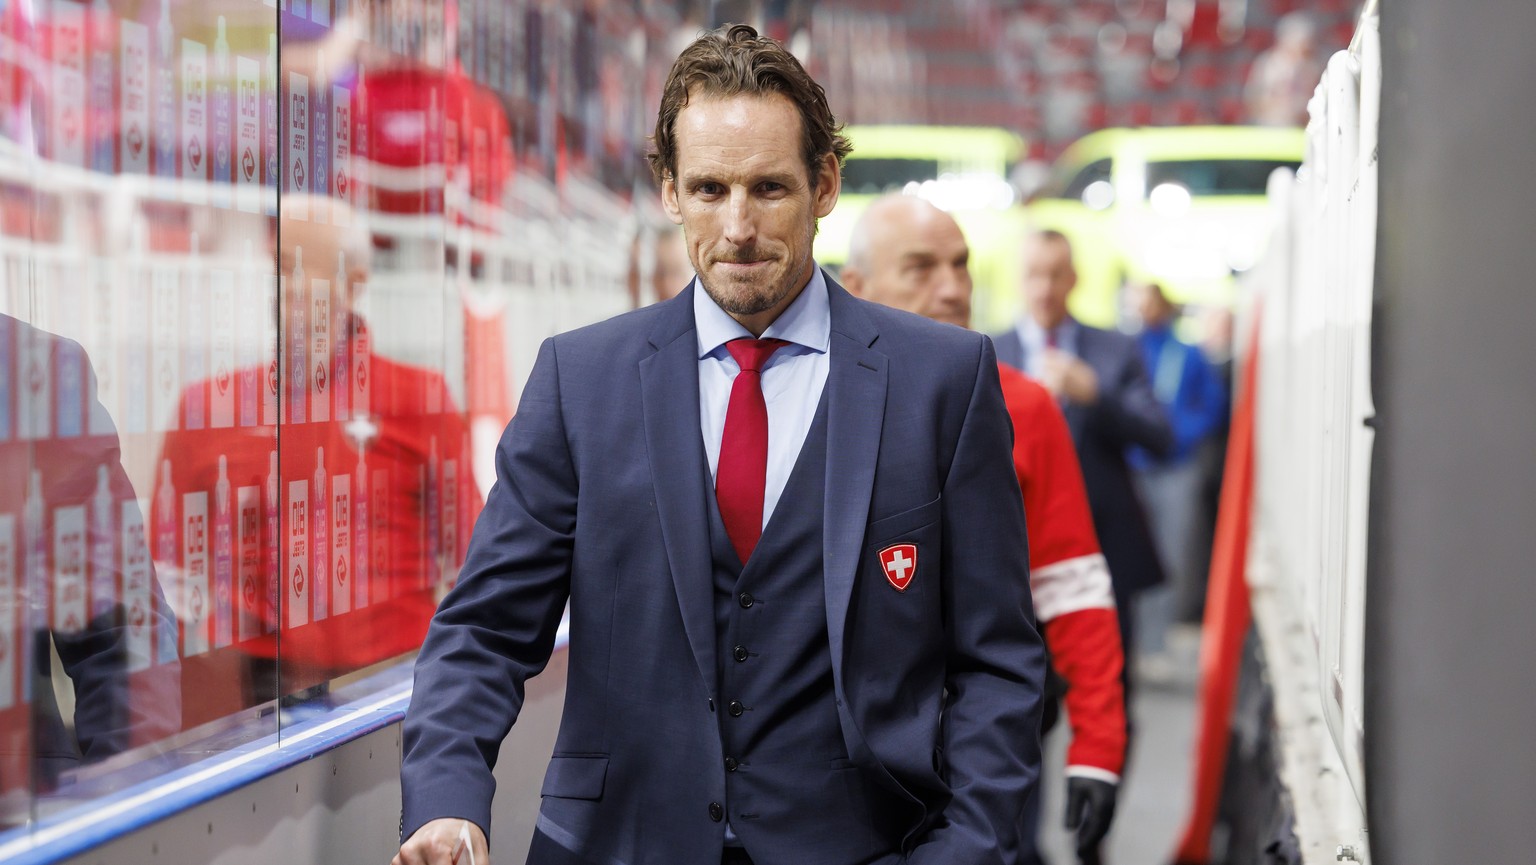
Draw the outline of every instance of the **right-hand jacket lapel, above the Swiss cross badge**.
[[[876,459],[885,423],[888,358],[874,350],[879,332],[869,317],[829,277],[833,340],[826,373],[826,493],[825,561],[826,633],[833,674],[842,691],[843,625],[852,596],[869,522]]]

